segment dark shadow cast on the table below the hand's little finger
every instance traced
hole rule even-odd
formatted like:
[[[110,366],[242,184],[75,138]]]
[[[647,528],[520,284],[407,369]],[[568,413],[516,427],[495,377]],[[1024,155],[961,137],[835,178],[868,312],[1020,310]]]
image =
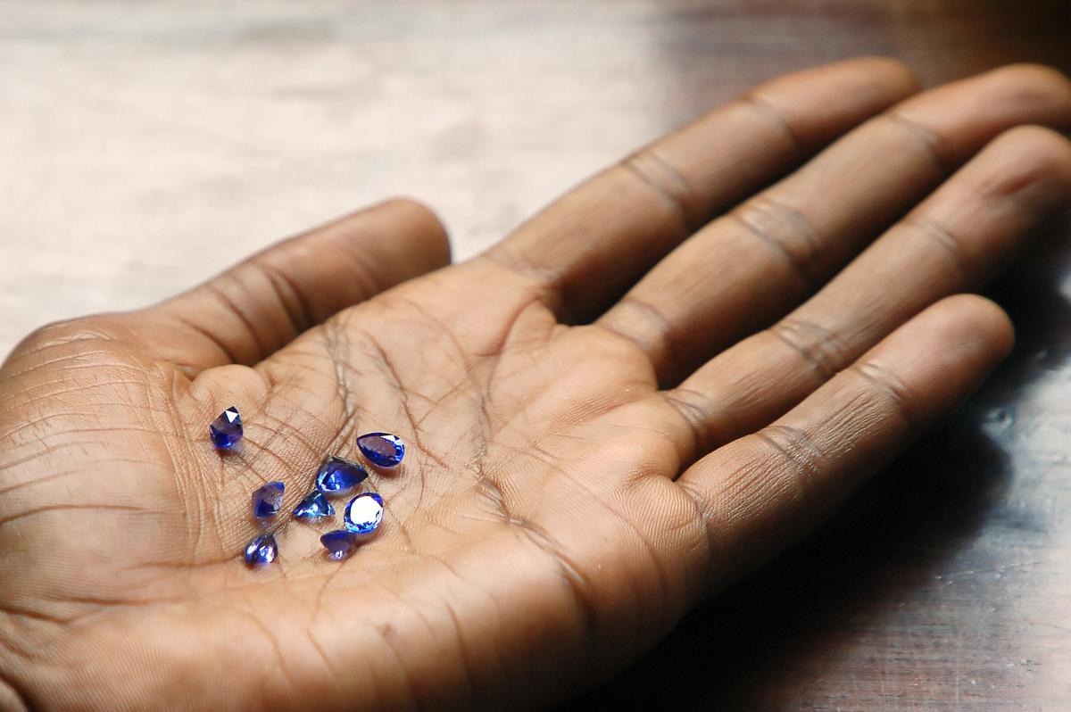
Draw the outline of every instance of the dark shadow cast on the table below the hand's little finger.
[[[917,685],[925,668],[899,661],[884,636],[918,634],[923,647],[939,638],[926,628],[933,606],[942,607],[939,620],[951,618],[966,645],[971,636],[993,645],[982,640],[989,634],[977,630],[977,616],[979,607],[1004,603],[1000,582],[954,593],[941,588],[965,566],[970,574],[1000,571],[1007,564],[1001,547],[1032,541],[1027,532],[1046,525],[1032,521],[1034,512],[1006,506],[1016,474],[1010,458],[1017,454],[1009,433],[1016,403],[1071,355],[1071,305],[1060,293],[1071,275],[1069,246],[1071,230],[1054,230],[994,290],[1016,323],[1017,346],[953,420],[864,486],[803,545],[699,607],[647,657],[564,709],[826,709],[830,685],[815,688],[814,681],[828,675],[853,686],[853,670],[876,665],[892,668],[893,677],[900,667]],[[1000,544],[987,545],[986,537]],[[857,653],[861,660],[845,663]]]

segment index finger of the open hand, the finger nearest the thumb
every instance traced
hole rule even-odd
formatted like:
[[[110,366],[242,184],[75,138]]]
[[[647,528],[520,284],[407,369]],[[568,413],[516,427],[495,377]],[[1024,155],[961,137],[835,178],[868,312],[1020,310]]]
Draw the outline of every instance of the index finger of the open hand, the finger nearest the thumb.
[[[483,259],[586,320],[711,216],[917,90],[880,58],[773,79],[582,184]]]

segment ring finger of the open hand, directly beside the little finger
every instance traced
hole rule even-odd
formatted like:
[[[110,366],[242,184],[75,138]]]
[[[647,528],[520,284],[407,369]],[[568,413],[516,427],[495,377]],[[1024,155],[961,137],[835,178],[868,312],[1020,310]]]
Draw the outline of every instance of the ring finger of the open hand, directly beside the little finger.
[[[1069,200],[1071,142],[1009,131],[821,291],[660,397],[699,453],[761,427],[927,305],[979,287]]]

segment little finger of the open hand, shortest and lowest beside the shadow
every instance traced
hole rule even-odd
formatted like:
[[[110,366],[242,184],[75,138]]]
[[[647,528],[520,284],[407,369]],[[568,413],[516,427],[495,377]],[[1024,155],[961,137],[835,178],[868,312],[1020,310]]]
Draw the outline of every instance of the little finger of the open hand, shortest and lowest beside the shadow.
[[[718,585],[761,564],[827,516],[1009,352],[1007,315],[980,297],[940,301],[783,418],[678,481],[699,503]]]

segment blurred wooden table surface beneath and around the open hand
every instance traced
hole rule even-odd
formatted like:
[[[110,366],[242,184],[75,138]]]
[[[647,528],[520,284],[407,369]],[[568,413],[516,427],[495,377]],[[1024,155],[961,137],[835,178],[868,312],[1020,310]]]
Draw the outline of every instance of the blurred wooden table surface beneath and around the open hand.
[[[465,257],[766,77],[1071,71],[1071,1],[0,0],[0,354],[384,196]],[[1010,362],[835,520],[568,706],[1071,710],[1071,231]]]

